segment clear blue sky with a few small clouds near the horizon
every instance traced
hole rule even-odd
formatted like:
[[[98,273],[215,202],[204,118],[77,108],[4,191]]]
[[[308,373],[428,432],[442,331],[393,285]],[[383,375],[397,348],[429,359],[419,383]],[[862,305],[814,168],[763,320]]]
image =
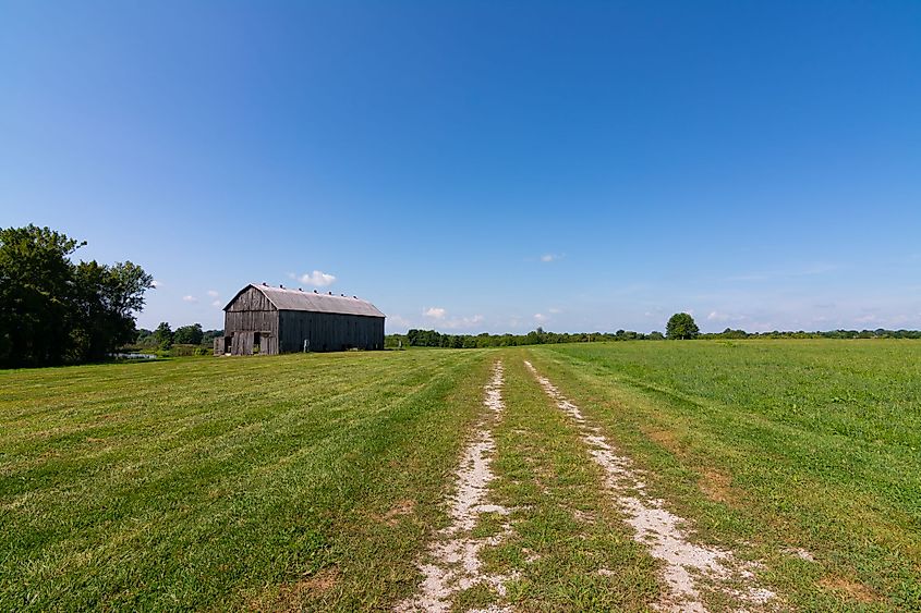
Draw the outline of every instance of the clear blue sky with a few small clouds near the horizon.
[[[141,263],[148,328],[251,281],[390,332],[921,328],[919,33],[913,1],[0,0],[0,225]]]

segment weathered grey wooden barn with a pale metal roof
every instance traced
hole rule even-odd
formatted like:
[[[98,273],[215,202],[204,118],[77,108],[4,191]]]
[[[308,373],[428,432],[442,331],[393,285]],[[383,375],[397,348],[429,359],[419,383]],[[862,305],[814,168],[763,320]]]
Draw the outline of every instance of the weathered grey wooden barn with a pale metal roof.
[[[384,348],[385,315],[355,296],[250,284],[223,311],[215,355]]]

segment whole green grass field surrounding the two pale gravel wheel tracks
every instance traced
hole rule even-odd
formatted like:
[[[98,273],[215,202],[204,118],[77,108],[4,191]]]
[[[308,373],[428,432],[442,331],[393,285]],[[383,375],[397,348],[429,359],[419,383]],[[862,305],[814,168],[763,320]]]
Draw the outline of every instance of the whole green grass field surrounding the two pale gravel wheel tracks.
[[[921,343],[751,341],[0,372],[0,610],[392,609],[481,427],[509,515],[474,532],[511,526],[481,553],[510,578],[455,608],[647,610],[662,565],[525,359],[694,540],[759,564],[765,609],[921,609]]]

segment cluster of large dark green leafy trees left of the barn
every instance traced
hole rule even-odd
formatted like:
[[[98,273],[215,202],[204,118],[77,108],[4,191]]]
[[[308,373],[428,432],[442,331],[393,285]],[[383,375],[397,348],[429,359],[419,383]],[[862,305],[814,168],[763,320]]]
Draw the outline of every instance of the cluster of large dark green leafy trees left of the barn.
[[[131,261],[72,261],[85,245],[32,224],[0,230],[0,366],[95,361],[134,340],[153,278]]]

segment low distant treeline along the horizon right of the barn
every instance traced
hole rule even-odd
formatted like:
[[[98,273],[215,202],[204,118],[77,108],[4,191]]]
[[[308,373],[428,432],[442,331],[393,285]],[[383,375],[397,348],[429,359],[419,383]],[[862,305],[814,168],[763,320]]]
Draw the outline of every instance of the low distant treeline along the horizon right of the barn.
[[[921,339],[919,330],[831,330],[827,332],[773,331],[746,332],[727,328],[723,332],[702,333],[698,339]],[[385,346],[396,347],[514,347],[520,345],[545,345],[555,343],[593,343],[610,341],[664,341],[665,334],[658,331],[633,332],[546,332],[541,328],[528,334],[443,334],[435,330],[410,330],[405,334],[389,334]]]

